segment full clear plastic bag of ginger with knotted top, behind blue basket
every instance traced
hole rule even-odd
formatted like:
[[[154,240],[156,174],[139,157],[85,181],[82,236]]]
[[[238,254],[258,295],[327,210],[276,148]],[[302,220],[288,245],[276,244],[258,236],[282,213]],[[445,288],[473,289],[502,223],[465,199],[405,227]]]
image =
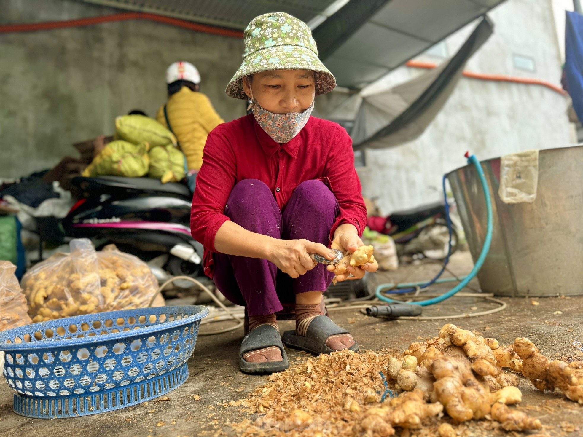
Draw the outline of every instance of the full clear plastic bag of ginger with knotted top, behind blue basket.
[[[142,260],[114,245],[97,252],[86,238],[69,246],[22,279],[33,322],[149,305],[158,283]]]

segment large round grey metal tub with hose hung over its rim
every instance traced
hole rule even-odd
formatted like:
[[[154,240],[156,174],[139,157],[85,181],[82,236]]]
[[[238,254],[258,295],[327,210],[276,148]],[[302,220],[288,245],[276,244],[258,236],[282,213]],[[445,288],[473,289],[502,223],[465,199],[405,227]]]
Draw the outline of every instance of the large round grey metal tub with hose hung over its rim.
[[[494,214],[477,277],[498,296],[583,294],[583,146],[541,150],[534,203],[500,200],[500,158],[483,161]],[[486,202],[473,165],[447,175],[474,262],[486,237]]]

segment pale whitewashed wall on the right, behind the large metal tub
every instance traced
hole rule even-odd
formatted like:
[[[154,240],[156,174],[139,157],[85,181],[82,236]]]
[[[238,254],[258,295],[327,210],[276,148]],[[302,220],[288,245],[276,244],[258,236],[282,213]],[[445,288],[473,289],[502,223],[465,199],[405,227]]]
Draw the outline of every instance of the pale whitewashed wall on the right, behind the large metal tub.
[[[507,0],[489,15],[494,34],[469,60],[467,70],[538,77],[560,85],[561,56],[550,0]],[[447,38],[449,56],[473,26]],[[512,54],[534,58],[536,71],[515,68]],[[380,86],[421,72],[400,68]],[[420,138],[392,149],[366,151],[367,167],[359,169],[363,193],[379,196],[385,214],[438,200],[442,175],[466,164],[466,150],[486,159],[572,144],[574,131],[566,110],[566,98],[542,86],[462,78]]]

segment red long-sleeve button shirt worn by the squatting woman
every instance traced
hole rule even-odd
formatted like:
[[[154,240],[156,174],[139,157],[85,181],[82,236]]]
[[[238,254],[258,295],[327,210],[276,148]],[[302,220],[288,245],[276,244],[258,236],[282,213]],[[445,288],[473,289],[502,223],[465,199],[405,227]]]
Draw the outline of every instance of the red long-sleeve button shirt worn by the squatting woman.
[[[215,235],[229,220],[224,215],[227,199],[243,179],[265,182],[282,211],[301,182],[320,179],[340,204],[331,241],[342,223],[353,224],[359,234],[366,226],[366,206],[354,169],[352,140],[342,126],[310,117],[295,138],[279,144],[249,114],[210,132],[196,177],[190,228],[192,237],[205,246],[204,270],[209,277],[214,270]]]

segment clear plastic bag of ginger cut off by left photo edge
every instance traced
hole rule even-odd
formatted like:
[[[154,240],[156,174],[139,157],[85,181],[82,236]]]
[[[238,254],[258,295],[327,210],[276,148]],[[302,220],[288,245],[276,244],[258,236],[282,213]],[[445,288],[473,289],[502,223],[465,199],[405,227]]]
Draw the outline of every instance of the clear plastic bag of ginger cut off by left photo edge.
[[[0,261],[0,331],[32,323],[15,272],[16,266],[11,262]]]

